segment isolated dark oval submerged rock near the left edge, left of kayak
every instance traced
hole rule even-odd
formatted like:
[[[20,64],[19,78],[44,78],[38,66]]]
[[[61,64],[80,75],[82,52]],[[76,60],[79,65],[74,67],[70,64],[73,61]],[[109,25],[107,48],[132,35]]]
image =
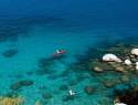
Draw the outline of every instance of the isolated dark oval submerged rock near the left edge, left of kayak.
[[[2,53],[2,55],[4,57],[12,57],[14,56],[15,54],[18,53],[18,50],[17,49],[10,49],[10,50],[7,50]]]

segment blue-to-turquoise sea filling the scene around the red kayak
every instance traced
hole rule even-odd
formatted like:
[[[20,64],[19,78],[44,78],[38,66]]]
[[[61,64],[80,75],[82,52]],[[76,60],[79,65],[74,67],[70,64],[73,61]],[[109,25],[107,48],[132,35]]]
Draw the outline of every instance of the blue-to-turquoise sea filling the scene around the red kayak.
[[[114,87],[103,86],[99,80],[114,80],[120,74],[92,75],[87,67],[79,70],[87,57],[94,60],[100,50],[118,43],[137,44],[137,3],[1,0],[0,96],[21,95],[24,105],[35,105],[38,101],[40,105],[113,105]],[[57,49],[67,53],[52,59]],[[21,81],[25,83],[15,84]],[[132,82],[137,81],[134,76]],[[84,91],[87,85],[96,88],[92,95]],[[74,98],[67,97],[70,90],[76,93]]]

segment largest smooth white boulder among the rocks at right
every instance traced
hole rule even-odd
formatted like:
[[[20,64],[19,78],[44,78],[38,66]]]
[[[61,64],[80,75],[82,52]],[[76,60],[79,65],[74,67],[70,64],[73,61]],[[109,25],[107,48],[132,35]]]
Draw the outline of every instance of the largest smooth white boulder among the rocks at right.
[[[115,54],[112,54],[112,53],[105,54],[103,56],[103,61],[106,61],[106,62],[121,62],[121,60],[118,56],[116,56]]]

